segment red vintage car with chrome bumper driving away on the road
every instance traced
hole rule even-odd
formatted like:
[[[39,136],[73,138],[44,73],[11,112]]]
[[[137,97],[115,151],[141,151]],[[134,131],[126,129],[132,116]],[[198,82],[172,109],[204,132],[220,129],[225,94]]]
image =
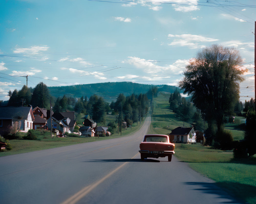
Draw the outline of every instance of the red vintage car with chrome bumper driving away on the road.
[[[141,160],[168,156],[168,161],[172,161],[175,144],[170,143],[168,135],[145,135],[140,144]]]

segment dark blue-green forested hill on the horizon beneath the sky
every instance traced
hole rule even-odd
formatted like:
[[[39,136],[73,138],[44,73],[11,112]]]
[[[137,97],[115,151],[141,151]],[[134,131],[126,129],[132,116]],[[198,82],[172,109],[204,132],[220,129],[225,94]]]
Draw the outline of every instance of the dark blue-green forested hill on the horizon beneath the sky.
[[[72,86],[52,86],[48,87],[52,96],[58,97],[64,94],[73,97],[87,96],[88,98],[92,94],[97,94],[104,97],[107,102],[116,100],[116,97],[123,93],[128,96],[132,93],[140,94],[147,93],[148,90],[155,85],[151,84],[138,84],[132,82],[106,82],[106,83],[95,83],[95,84],[80,84]],[[156,85],[158,91],[166,91],[173,93],[176,89],[175,86],[169,85]]]

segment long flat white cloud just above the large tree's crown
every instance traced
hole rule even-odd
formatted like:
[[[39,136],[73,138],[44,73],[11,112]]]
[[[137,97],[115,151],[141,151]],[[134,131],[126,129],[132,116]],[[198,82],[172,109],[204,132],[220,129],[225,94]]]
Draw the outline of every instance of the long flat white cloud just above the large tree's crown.
[[[173,46],[189,46],[191,48],[205,47],[205,45],[199,45],[199,42],[207,43],[207,42],[215,42],[218,39],[205,37],[202,35],[191,35],[191,34],[182,34],[182,35],[173,35],[168,34],[168,37],[175,38],[173,42],[168,45]]]

